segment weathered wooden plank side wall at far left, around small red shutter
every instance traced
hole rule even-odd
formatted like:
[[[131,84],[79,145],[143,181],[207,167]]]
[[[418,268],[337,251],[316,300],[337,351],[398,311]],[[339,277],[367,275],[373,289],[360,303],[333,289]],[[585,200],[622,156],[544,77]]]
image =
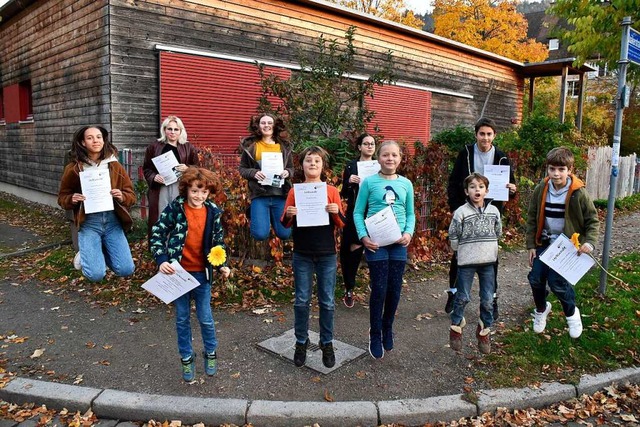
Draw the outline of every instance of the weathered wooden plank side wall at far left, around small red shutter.
[[[0,126],[0,181],[56,194],[74,130],[108,125],[107,24],[94,0],[36,2],[2,23],[0,82],[31,80],[33,122]]]

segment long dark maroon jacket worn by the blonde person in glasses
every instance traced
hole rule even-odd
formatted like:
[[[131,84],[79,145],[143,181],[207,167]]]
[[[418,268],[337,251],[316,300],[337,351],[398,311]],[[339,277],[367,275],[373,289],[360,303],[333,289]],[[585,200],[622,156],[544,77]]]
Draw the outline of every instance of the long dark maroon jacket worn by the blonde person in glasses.
[[[149,192],[147,193],[147,199],[149,203],[149,216],[147,220],[148,235],[151,236],[151,227],[158,220],[158,201],[160,199],[160,189],[164,184],[160,184],[154,181],[158,174],[158,169],[153,164],[154,157],[158,157],[162,154],[162,150],[167,146],[165,142],[154,141],[147,147],[144,153],[144,162],[142,164],[142,171],[144,172],[144,179],[149,186]],[[198,160],[198,150],[186,142],[184,144],[178,144],[178,163],[185,164],[187,166],[198,166],[200,164]]]

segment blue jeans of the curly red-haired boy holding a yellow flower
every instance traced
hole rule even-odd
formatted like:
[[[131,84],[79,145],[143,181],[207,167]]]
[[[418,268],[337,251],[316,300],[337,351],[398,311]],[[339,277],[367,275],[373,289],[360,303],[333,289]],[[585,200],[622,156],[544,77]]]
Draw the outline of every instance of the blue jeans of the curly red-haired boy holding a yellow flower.
[[[176,308],[176,332],[178,334],[178,352],[183,359],[189,358],[193,354],[191,346],[191,300],[196,303],[196,315],[200,322],[200,332],[202,333],[202,343],[205,353],[213,353],[218,347],[216,339],[216,326],[213,322],[211,311],[211,285],[207,280],[207,275],[202,272],[190,272],[193,277],[200,282],[200,286],[192,289],[173,302]]]

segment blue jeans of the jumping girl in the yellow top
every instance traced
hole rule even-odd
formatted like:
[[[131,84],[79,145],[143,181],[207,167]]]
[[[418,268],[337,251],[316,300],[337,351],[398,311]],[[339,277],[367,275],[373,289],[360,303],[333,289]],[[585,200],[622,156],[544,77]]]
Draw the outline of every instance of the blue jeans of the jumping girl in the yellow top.
[[[251,236],[256,240],[267,240],[273,226],[276,236],[287,240],[291,236],[291,229],[280,223],[284,211],[286,198],[278,196],[256,197],[251,201]]]

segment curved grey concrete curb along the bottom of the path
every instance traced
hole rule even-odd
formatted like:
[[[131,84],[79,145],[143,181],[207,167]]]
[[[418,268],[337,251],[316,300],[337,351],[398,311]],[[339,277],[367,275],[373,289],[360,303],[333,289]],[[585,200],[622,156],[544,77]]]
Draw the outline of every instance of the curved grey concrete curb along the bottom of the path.
[[[269,400],[214,399],[161,396],[100,390],[46,381],[14,378],[0,389],[0,399],[23,404],[34,402],[54,409],[85,412],[98,418],[127,421],[181,420],[185,424],[233,423],[254,426],[422,425],[474,417],[497,408],[540,408],[583,394],[592,394],[611,384],[640,383],[640,368],[626,368],[598,375],[584,375],[578,385],[544,383],[539,388],[506,388],[477,392],[477,404],[462,395],[427,399],[353,402],[282,402]]]

